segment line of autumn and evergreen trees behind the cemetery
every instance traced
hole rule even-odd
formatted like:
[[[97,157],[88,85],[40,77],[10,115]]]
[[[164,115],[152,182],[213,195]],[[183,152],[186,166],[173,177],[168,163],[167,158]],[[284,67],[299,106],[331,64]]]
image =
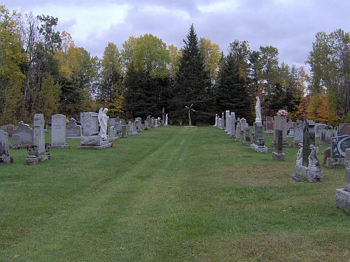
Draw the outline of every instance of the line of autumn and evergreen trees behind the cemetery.
[[[49,15],[21,15],[0,6],[0,124],[31,122],[61,113],[109,108],[109,117],[158,117],[162,108],[174,124],[213,124],[215,114],[234,111],[252,123],[255,96],[263,116],[283,108],[288,118],[333,125],[350,121],[349,33],[318,32],[303,67],[279,62],[273,46],[251,50],[235,40],[220,51],[198,38],[193,24],[183,47],[167,45],[152,34],[130,36],[119,50],[109,42],[102,58],[74,45],[57,31]]]

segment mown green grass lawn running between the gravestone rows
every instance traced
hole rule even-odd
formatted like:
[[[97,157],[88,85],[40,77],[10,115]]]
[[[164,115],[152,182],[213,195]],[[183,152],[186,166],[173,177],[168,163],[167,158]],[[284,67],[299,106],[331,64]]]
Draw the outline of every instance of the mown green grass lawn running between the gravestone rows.
[[[10,150],[0,261],[350,261],[350,216],[335,206],[344,168],[295,182],[298,149],[272,161],[264,136],[267,154],[212,126],[161,126],[105,150],[67,140],[34,166]]]

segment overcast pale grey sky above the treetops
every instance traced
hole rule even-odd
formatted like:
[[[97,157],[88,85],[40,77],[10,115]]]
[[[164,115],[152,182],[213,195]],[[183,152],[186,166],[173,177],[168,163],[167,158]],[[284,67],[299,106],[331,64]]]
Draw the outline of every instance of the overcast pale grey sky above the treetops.
[[[153,34],[183,47],[190,25],[225,52],[235,41],[251,50],[272,45],[279,61],[304,66],[318,31],[350,31],[349,0],[0,0],[10,10],[58,18],[57,30],[102,58],[108,42]]]

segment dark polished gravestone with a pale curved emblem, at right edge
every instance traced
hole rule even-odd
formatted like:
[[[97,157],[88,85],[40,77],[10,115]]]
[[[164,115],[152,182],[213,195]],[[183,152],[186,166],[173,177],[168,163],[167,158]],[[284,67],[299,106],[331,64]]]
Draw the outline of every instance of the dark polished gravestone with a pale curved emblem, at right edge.
[[[333,137],[330,145],[330,157],[327,157],[325,166],[328,168],[344,168],[345,152],[350,148],[350,136]]]

